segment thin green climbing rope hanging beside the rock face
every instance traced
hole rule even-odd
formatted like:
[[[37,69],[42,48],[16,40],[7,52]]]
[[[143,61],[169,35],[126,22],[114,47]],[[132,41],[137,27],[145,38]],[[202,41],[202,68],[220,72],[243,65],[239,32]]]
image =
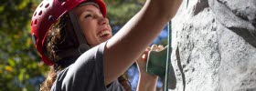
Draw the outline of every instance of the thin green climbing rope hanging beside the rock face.
[[[168,47],[167,47],[167,58],[166,58],[166,67],[165,67],[165,91],[168,91],[169,86],[169,76],[170,76],[170,62],[171,62],[171,51],[172,51],[172,30],[170,28],[171,21],[167,23],[168,29]]]

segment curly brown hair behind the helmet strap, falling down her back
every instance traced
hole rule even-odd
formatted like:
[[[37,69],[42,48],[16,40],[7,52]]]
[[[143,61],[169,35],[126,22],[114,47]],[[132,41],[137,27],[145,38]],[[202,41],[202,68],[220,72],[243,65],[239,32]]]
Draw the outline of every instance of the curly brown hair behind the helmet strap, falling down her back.
[[[63,41],[66,40],[66,16],[63,16],[59,19],[56,25],[53,25],[46,37],[44,45],[44,55],[48,56],[48,59],[52,60],[55,64],[59,61],[59,56],[56,54],[59,49],[59,45],[63,45]],[[61,66],[49,66],[48,76],[46,76],[45,81],[40,86],[40,91],[49,91],[54,81],[56,80],[57,73],[61,71]]]

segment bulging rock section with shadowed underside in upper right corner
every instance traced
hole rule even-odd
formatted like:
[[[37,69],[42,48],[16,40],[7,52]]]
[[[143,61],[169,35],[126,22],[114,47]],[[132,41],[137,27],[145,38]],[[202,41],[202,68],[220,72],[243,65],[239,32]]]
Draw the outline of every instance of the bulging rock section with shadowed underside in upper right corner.
[[[208,5],[221,25],[256,47],[255,0],[208,0]]]

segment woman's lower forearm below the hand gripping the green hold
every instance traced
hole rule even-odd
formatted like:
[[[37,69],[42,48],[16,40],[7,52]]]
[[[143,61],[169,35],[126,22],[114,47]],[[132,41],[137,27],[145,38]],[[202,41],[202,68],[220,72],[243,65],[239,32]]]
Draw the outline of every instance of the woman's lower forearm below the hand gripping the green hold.
[[[158,76],[144,74],[139,76],[137,91],[155,91]]]

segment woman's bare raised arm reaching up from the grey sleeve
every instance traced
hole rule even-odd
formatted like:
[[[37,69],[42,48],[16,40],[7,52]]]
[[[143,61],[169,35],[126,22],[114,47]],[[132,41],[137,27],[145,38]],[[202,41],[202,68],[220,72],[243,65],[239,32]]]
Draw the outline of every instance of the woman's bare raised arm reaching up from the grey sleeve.
[[[104,50],[105,85],[132,66],[176,15],[182,0],[147,0],[142,10],[108,41]]]

